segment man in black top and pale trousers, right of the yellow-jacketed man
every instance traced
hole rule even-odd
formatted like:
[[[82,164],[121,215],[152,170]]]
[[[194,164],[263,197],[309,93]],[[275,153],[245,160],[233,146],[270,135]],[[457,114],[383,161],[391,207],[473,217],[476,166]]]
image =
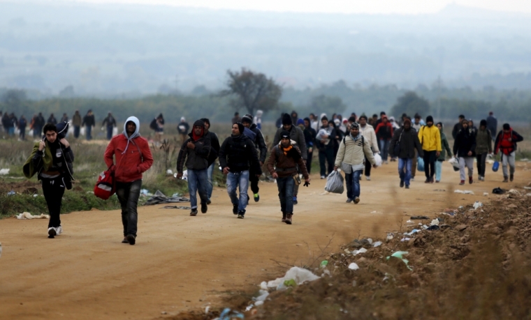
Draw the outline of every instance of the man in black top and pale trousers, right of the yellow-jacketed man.
[[[474,155],[476,155],[476,135],[468,130],[468,121],[461,121],[461,129],[453,142],[453,154],[459,158],[460,185],[465,184],[465,167],[468,168],[468,183],[474,182]]]

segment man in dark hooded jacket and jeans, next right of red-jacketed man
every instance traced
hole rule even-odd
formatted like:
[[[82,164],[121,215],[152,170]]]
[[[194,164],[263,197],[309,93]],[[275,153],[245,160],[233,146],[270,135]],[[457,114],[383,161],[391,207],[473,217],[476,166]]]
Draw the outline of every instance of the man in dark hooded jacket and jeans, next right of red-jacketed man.
[[[177,157],[177,178],[182,178],[182,168],[186,164],[188,190],[190,192],[191,216],[197,215],[197,195],[201,198],[201,213],[207,213],[208,202],[208,155],[210,139],[205,137],[205,123],[198,120],[181,146]]]

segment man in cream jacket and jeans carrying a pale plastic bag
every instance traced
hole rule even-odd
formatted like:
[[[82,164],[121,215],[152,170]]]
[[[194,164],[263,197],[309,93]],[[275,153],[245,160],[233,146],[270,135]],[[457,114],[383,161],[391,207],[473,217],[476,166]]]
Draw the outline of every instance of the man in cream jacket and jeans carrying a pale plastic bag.
[[[354,204],[358,204],[360,201],[360,176],[365,168],[365,157],[373,168],[377,167],[369,142],[360,134],[358,123],[352,123],[350,134],[340,143],[334,165],[334,172],[341,167],[352,178],[352,188],[348,190],[350,192],[347,191],[347,203],[354,201]]]

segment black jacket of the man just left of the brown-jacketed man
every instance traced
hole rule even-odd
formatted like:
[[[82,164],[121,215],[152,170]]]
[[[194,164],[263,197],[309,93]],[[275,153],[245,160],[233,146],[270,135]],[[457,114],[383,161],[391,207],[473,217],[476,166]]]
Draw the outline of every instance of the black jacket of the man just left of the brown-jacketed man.
[[[262,174],[254,142],[246,135],[227,137],[219,148],[219,165],[228,167],[229,172],[238,173],[253,168],[256,174]]]

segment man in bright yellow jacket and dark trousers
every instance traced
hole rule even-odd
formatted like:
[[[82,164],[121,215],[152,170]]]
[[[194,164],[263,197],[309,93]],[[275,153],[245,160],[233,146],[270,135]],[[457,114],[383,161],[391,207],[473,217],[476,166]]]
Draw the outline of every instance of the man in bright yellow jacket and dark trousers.
[[[433,117],[426,117],[426,125],[419,130],[419,140],[424,151],[424,173],[426,181],[424,183],[433,183],[435,175],[435,161],[441,154],[441,133],[439,128],[433,125]]]

